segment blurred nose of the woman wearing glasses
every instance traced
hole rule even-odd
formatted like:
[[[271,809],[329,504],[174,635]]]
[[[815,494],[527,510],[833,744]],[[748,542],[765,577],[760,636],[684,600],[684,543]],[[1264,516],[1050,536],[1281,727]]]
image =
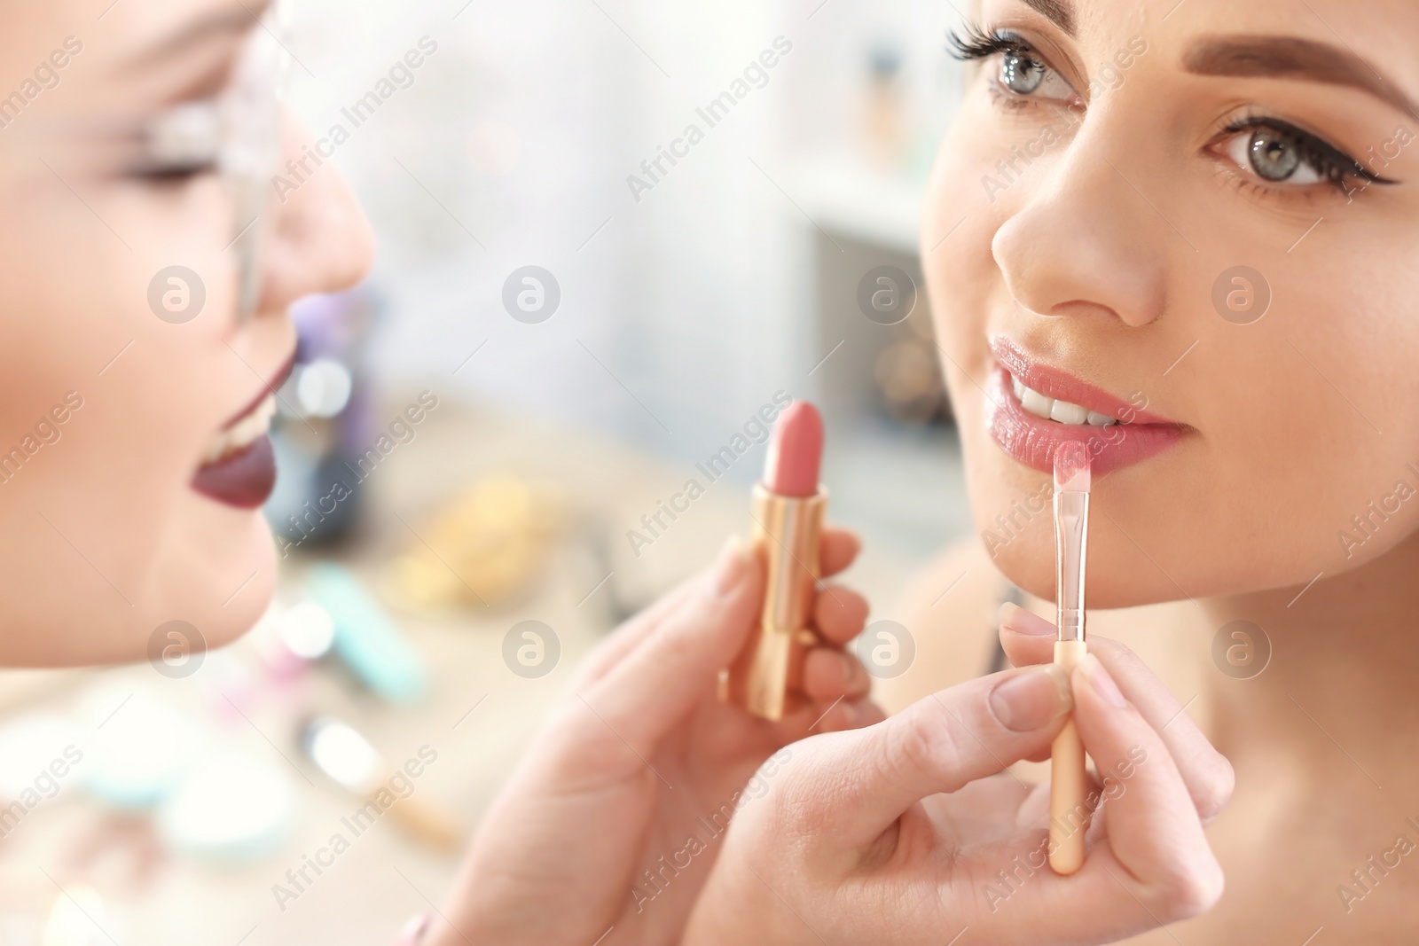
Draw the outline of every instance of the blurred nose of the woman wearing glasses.
[[[261,250],[258,312],[284,313],[304,295],[348,289],[375,258],[375,235],[345,177],[288,112],[282,142],[270,197],[274,220]]]

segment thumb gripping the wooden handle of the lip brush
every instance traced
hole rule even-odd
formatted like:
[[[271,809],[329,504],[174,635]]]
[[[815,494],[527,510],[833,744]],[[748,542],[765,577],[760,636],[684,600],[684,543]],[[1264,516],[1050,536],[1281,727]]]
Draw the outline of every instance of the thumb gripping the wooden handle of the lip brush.
[[[1073,708],[1054,664],[1020,667],[932,694],[884,722],[820,736],[830,749],[796,767],[817,838],[874,842],[912,804],[1003,772],[1049,747]],[[832,740],[829,743],[829,740]]]

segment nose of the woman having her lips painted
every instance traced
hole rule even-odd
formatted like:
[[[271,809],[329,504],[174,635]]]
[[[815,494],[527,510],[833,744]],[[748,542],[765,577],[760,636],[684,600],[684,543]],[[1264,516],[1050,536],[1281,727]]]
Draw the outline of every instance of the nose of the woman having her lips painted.
[[[1087,125],[1022,206],[995,233],[990,250],[1013,298],[1040,315],[1115,318],[1148,325],[1166,304],[1165,254],[1188,247],[1130,167],[1105,150],[1117,138]],[[1134,153],[1139,153],[1141,149]],[[1130,177],[1125,177],[1130,174]]]

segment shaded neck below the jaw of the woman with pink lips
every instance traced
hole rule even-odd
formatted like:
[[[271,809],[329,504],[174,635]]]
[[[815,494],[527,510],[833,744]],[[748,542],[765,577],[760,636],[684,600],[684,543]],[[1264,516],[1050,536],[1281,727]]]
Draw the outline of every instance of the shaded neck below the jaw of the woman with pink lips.
[[[1395,752],[1419,745],[1419,536],[1308,587],[1213,599],[1203,610],[1210,628],[1249,621],[1270,641],[1260,674],[1208,675],[1219,749],[1284,752],[1325,783],[1327,772],[1419,783],[1419,759]],[[1229,642],[1246,655],[1244,638]]]

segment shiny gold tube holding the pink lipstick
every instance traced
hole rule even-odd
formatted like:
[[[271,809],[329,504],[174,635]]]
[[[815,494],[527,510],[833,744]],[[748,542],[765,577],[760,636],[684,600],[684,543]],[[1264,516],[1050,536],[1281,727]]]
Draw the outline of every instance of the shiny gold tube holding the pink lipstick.
[[[719,679],[719,699],[755,716],[782,719],[803,702],[803,658],[817,640],[810,624],[822,573],[819,538],[827,489],[803,499],[753,485],[753,542],[766,567],[763,613]]]

